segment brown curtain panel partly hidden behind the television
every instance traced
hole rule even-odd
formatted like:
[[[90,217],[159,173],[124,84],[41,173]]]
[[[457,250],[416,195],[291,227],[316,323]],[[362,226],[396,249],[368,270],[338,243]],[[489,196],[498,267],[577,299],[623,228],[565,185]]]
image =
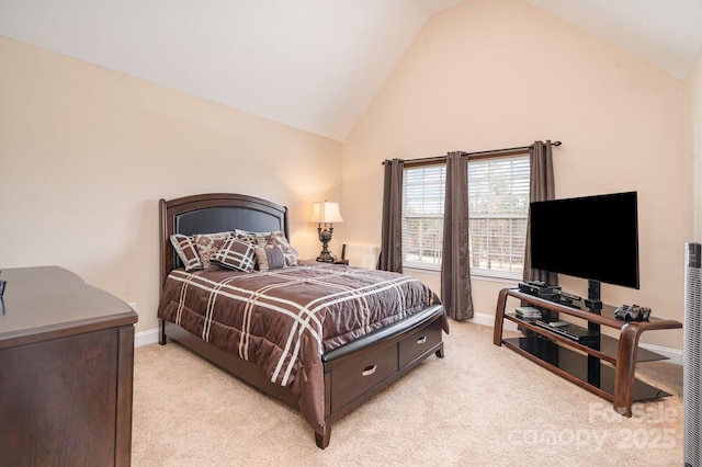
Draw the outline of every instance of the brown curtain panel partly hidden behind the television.
[[[535,141],[530,148],[530,193],[529,201],[546,201],[556,197],[553,174],[553,150],[550,140]],[[543,281],[548,285],[558,285],[558,275],[531,266],[531,214],[526,219],[526,251],[524,251],[524,282]]]

